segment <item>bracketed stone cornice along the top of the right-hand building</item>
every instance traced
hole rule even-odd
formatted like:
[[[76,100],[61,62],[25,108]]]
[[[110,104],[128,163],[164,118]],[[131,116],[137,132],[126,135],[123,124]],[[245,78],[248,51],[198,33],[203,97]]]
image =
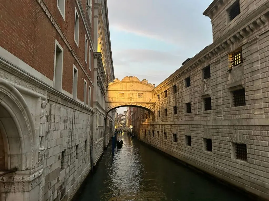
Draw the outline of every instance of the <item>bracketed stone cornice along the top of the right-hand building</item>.
[[[201,64],[212,62],[214,58],[224,51],[234,51],[240,44],[242,45],[242,42],[247,42],[245,39],[250,38],[253,32],[263,28],[268,29],[268,15],[268,7],[265,4],[261,5],[250,13],[246,19],[240,21],[215,42],[196,54],[189,62],[177,69],[171,76],[162,81],[155,88],[154,94],[164,91],[170,87],[172,83],[176,82],[179,78],[186,76],[186,74],[190,73]],[[253,20],[250,21],[249,19]]]

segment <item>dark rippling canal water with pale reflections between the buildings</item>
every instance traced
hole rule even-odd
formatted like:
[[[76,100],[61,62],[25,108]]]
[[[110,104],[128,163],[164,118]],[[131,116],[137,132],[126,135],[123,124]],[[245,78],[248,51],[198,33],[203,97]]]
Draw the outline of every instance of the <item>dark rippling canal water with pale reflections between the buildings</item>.
[[[115,150],[114,160],[110,145],[96,172],[86,178],[73,200],[250,200],[151,150],[137,139],[129,139],[126,133],[122,137],[123,147]]]

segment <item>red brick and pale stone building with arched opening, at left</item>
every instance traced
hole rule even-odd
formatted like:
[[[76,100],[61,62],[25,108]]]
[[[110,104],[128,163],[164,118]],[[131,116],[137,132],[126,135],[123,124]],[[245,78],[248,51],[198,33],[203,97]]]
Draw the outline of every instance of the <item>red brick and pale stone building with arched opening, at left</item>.
[[[107,18],[106,1],[0,1],[1,201],[71,200],[92,168],[96,6]]]

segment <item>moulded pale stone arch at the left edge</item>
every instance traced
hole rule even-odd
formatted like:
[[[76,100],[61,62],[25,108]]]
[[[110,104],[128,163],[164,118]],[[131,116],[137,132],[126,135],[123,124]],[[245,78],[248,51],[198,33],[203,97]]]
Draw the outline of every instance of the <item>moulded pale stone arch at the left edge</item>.
[[[15,84],[0,79],[0,130],[5,148],[5,169],[37,166],[38,136],[27,103]]]

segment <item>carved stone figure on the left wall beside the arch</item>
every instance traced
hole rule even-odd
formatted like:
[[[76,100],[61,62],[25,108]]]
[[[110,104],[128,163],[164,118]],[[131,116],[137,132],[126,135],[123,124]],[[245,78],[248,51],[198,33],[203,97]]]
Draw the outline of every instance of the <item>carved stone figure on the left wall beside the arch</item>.
[[[47,102],[41,102],[41,116],[40,116],[40,128],[39,128],[39,150],[44,150],[44,140],[46,133],[46,122],[48,113],[46,111]]]

